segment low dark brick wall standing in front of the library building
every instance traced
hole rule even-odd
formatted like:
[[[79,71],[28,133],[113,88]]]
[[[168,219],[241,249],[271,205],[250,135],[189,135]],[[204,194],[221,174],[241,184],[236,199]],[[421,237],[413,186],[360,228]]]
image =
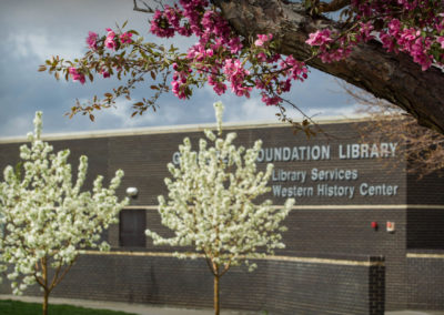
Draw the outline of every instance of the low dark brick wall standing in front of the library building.
[[[380,257],[278,257],[258,261],[258,265],[252,273],[232,267],[221,278],[222,309],[282,315],[384,314]],[[0,292],[9,292],[7,285],[1,284]],[[27,294],[40,295],[37,287]],[[82,255],[52,296],[212,307],[213,278],[200,258]]]

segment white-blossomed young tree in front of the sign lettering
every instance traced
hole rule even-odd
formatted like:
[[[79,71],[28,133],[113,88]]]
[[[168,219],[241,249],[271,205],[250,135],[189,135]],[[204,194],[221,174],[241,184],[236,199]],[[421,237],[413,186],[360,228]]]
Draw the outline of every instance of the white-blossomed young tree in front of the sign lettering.
[[[270,191],[266,186],[273,164],[265,172],[258,172],[256,159],[262,142],[245,150],[232,143],[236,133],[222,138],[221,102],[214,104],[219,136],[205,130],[206,140],[199,142],[199,152],[192,151],[190,139],[179,146],[180,165],[168,164],[172,179],[165,179],[169,199],[159,196],[159,213],[162,224],[173,230],[174,237],[164,238],[147,230],[157,245],[191,245],[195,253],[204,255],[214,276],[214,311],[219,314],[219,280],[231,266],[250,258],[272,254],[283,248],[281,222],[289,214],[293,199],[282,209],[274,207],[270,200],[256,204],[256,199]],[[209,142],[213,146],[209,146]],[[259,250],[262,252],[258,252]],[[175,253],[179,257],[195,257],[188,253]]]

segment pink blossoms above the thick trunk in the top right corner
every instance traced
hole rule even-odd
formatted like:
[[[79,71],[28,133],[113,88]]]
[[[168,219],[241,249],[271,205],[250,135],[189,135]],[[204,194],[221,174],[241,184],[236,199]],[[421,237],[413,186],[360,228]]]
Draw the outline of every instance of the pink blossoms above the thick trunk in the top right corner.
[[[428,69],[433,62],[442,64],[442,1],[353,0],[352,7],[357,12],[354,29],[345,34],[332,34],[329,30],[320,30],[311,33],[306,40],[307,44],[316,48],[316,53],[323,62],[342,60],[357,43],[376,38],[387,51],[408,53],[422,70]],[[380,24],[383,23],[377,30],[373,24],[375,20]],[[441,58],[435,60],[434,55]]]

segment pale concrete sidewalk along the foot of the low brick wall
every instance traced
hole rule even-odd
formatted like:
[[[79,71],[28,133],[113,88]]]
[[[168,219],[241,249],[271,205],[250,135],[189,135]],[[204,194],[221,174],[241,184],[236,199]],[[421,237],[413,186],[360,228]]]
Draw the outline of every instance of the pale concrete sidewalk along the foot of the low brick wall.
[[[37,296],[16,296],[0,294],[0,299],[17,299],[22,302],[41,303],[42,298]],[[82,306],[88,308],[102,308],[112,311],[122,311],[138,315],[213,315],[213,309],[190,309],[190,308],[175,308],[168,306],[155,306],[148,304],[129,304],[123,302],[105,302],[105,301],[90,301],[90,299],[74,299],[74,298],[60,298],[50,297],[50,304],[69,304]],[[249,311],[221,311],[221,315],[262,315],[261,312]],[[385,315],[444,315],[444,311],[393,311],[385,312]]]

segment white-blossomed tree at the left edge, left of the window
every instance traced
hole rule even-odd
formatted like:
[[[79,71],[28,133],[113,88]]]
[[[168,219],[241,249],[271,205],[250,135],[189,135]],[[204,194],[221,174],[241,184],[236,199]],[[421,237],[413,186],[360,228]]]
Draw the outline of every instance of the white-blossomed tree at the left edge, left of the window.
[[[98,176],[92,192],[81,191],[88,159],[80,158],[72,182],[69,150],[53,153],[41,140],[42,113],[37,112],[31,146],[20,148],[21,165],[4,169],[0,182],[0,266],[7,272],[14,294],[29,285],[43,291],[43,315],[48,297],[74,264],[82,248],[108,251],[100,242],[103,230],[118,221],[128,200],[118,201],[115,190],[123,172],[119,170],[107,189]],[[10,268],[8,268],[10,266]]]

